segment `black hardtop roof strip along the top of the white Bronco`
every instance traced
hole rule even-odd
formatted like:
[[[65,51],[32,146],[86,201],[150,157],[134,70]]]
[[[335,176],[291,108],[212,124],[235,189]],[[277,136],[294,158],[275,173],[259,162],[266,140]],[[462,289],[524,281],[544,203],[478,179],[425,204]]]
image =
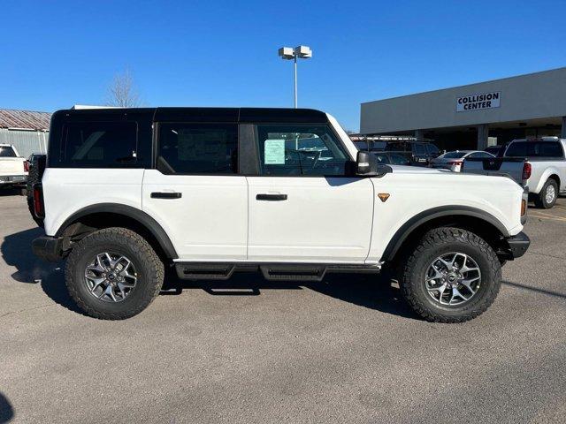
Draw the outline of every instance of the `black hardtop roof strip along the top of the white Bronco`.
[[[57,110],[54,117],[94,119],[151,118],[155,122],[264,122],[326,123],[325,112],[313,109],[285,108],[92,108]]]

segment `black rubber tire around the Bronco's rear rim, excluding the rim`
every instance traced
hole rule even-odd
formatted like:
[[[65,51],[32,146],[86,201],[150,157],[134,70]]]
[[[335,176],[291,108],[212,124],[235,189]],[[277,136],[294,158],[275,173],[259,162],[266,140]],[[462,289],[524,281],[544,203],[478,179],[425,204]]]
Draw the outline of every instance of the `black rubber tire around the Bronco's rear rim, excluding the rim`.
[[[138,279],[120,302],[104,302],[88,291],[85,269],[89,258],[104,251],[124,254],[134,264]],[[157,297],[164,280],[164,264],[149,243],[126,228],[106,228],[89,234],[74,246],[65,267],[65,284],[77,306],[101,320],[124,320],[139,314]]]

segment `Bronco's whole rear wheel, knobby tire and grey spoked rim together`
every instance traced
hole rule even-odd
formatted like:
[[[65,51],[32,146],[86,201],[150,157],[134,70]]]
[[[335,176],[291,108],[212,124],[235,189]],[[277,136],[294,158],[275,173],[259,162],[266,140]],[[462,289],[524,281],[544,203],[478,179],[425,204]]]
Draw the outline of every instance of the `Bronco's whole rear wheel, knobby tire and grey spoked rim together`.
[[[139,314],[157,297],[164,265],[134,231],[106,228],[89,234],[67,258],[65,283],[85,314],[123,320]]]

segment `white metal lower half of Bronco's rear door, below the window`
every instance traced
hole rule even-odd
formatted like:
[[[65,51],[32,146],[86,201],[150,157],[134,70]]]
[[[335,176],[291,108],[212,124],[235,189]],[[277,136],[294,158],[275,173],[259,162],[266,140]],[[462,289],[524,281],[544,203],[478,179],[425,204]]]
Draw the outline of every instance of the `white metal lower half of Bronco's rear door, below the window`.
[[[180,199],[152,199],[154,192]],[[242,261],[248,243],[248,184],[245,177],[164,175],[146,170],[142,209],[172,241],[180,261]]]

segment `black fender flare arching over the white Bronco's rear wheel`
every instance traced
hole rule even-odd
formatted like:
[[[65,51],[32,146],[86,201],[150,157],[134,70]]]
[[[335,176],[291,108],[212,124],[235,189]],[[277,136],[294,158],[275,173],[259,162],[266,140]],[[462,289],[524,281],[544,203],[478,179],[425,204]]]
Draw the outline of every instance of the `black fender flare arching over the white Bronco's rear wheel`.
[[[56,237],[61,237],[65,229],[76,221],[80,221],[83,216],[93,215],[93,214],[116,214],[121,216],[126,216],[132,218],[138,223],[141,223],[152,235],[157,239],[157,243],[163,249],[165,255],[169,259],[177,259],[179,255],[172,244],[171,239],[164,231],[163,227],[157,223],[155,219],[143,212],[138,208],[134,208],[127,205],[122,205],[119,203],[98,203],[96,205],[87,206],[85,208],[80,208],[72,216],[65,219],[65,222],[61,224],[57,232]]]

